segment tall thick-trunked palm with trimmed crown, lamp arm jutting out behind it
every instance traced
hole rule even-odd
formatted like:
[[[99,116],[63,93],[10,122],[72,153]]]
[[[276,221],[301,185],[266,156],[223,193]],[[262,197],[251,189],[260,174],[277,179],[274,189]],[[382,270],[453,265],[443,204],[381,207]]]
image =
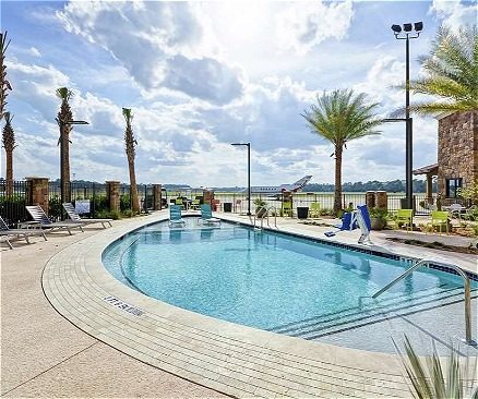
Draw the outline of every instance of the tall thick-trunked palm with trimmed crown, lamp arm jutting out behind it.
[[[61,176],[61,200],[70,202],[70,132],[72,125],[69,121],[73,120],[69,100],[73,93],[68,87],[60,87],[57,89],[57,97],[61,99],[60,111],[57,116],[57,123],[60,128],[60,176]]]

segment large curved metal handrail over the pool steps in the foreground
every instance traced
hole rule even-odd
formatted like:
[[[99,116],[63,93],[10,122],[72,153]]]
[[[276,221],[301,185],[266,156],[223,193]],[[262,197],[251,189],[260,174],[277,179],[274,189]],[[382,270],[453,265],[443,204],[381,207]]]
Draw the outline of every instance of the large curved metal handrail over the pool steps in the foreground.
[[[466,275],[465,270],[463,270],[459,266],[447,264],[447,263],[441,263],[437,261],[431,259],[420,259],[415,265],[406,269],[402,275],[399,275],[397,278],[393,279],[391,282],[389,282],[385,287],[377,291],[372,298],[375,299],[380,297],[383,292],[395,286],[398,281],[404,279],[405,277],[411,275],[416,269],[418,269],[421,266],[425,265],[438,265],[443,267],[449,267],[455,270],[459,276],[463,277],[465,281],[465,342],[471,346],[476,346],[476,341],[471,337],[471,295],[470,295],[470,282],[469,277]]]

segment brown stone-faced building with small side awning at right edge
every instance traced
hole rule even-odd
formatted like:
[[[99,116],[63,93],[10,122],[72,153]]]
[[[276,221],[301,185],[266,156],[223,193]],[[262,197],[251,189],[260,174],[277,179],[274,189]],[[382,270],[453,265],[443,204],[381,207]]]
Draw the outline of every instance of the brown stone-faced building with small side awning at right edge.
[[[432,179],[438,194],[454,202],[457,189],[478,181],[478,111],[445,112],[437,117],[437,164],[414,170],[427,174],[427,196],[432,202]]]

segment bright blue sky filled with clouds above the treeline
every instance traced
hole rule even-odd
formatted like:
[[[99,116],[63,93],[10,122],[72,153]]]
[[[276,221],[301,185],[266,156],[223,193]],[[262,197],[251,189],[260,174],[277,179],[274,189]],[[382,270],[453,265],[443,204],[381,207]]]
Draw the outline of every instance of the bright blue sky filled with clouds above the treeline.
[[[334,181],[332,145],[301,113],[336,88],[366,93],[380,117],[402,108],[405,44],[392,24],[423,22],[410,41],[422,75],[441,24],[476,24],[475,1],[4,1],[8,110],[15,179],[59,176],[58,87],[73,92],[71,178],[128,181],[122,107],[133,112],[136,180],[244,186],[312,174]],[[418,98],[411,96],[411,101]],[[414,118],[414,168],[437,161],[437,120]],[[343,181],[405,179],[405,125],[350,142]],[[1,152],[2,176],[4,150]]]

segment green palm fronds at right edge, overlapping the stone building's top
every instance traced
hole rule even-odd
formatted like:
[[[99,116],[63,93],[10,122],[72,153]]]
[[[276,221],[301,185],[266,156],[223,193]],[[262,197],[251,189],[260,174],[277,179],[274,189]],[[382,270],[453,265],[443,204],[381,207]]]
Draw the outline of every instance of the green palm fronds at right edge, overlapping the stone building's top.
[[[440,27],[428,56],[419,58],[427,75],[410,82],[414,93],[438,97],[413,105],[411,111],[438,113],[478,109],[478,28]]]

